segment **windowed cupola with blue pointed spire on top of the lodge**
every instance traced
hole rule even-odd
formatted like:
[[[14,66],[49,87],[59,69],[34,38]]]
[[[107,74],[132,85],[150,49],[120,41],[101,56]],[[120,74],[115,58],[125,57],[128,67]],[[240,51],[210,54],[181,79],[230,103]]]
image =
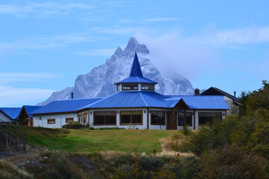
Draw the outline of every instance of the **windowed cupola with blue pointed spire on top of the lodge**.
[[[148,78],[144,78],[138,61],[137,54],[134,54],[134,60],[129,76],[114,85],[116,91],[155,91],[155,85],[158,84]]]

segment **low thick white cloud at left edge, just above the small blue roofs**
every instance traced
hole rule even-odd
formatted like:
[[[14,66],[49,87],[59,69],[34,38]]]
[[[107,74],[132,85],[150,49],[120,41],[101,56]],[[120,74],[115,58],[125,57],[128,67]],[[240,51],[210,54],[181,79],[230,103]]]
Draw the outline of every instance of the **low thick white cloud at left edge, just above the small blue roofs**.
[[[12,86],[0,86],[0,106],[1,107],[20,107],[15,104],[35,105],[36,101],[44,101],[54,91],[51,89],[40,88],[15,88]],[[34,104],[33,104],[34,103]],[[21,105],[21,106],[22,106]]]

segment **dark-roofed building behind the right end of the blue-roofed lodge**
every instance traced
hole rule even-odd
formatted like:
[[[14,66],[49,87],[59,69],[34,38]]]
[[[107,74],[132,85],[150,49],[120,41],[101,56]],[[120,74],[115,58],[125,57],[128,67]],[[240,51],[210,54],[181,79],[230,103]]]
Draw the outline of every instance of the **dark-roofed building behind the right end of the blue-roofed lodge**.
[[[206,95],[206,96],[222,96],[224,98],[224,100],[226,101],[226,103],[228,104],[228,106],[230,108],[232,108],[234,105],[238,105],[239,103],[239,98],[235,97],[235,93],[233,92],[234,96],[226,93],[216,87],[210,87],[207,90],[205,90],[203,93],[201,93],[200,95]],[[230,113],[230,110],[227,110],[227,114]]]

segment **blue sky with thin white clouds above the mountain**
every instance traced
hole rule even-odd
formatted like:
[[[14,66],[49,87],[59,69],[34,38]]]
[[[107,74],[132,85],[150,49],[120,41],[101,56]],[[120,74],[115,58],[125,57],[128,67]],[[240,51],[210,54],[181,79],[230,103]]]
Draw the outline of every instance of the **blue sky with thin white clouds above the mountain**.
[[[230,94],[268,79],[268,1],[0,1],[0,106],[74,86],[134,36],[162,75]],[[113,83],[113,82],[111,82]]]

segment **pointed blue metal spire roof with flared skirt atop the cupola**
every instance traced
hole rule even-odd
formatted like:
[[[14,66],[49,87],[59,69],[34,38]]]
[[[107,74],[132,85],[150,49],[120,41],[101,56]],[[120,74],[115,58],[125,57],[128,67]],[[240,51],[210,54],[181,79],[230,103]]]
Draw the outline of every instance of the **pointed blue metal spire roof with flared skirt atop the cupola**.
[[[157,84],[157,82],[143,77],[136,52],[134,54],[134,60],[132,63],[132,67],[131,67],[129,76],[127,78],[117,82],[117,83],[154,83],[154,84]],[[115,84],[117,84],[117,83],[115,83]]]

